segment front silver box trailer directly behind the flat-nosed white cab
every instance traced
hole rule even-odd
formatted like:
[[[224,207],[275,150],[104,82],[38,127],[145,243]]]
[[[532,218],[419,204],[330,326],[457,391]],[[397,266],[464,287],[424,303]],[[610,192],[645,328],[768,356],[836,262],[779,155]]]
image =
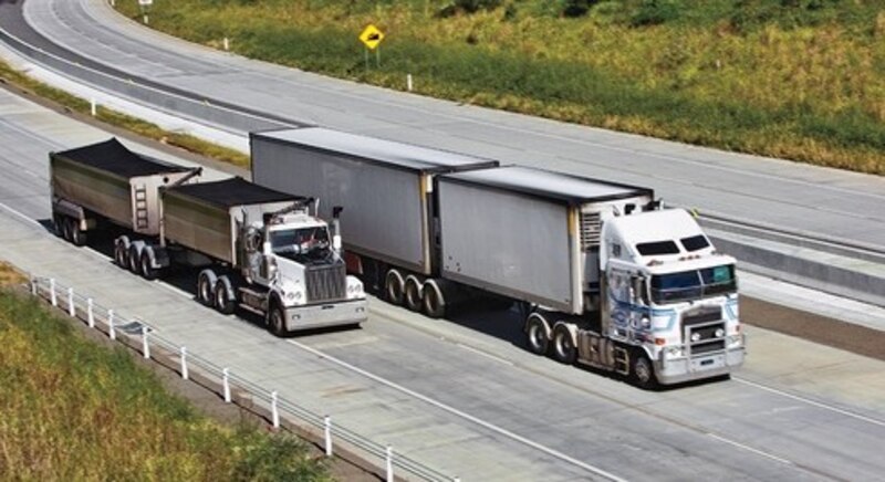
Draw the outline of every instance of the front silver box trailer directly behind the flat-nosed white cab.
[[[444,279],[569,314],[598,304],[601,213],[653,200],[525,167],[445,175],[436,189]]]

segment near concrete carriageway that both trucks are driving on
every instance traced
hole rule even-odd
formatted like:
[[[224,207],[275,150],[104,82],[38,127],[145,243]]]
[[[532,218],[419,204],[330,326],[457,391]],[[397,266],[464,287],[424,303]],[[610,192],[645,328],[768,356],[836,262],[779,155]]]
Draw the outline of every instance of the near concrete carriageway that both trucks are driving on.
[[[140,316],[195,354],[461,480],[874,480],[885,364],[760,328],[731,380],[659,392],[535,357],[509,312],[277,339],[49,233],[46,153],[106,138],[0,91],[0,258]],[[153,153],[167,157],[162,153]],[[789,316],[801,317],[800,312]],[[752,319],[746,319],[752,323]]]

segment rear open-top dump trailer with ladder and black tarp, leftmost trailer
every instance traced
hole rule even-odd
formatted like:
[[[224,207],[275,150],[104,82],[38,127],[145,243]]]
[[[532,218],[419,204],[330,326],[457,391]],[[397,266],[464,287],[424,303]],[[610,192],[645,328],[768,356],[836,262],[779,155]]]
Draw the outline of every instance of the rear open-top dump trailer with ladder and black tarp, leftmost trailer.
[[[76,244],[107,220],[144,235],[159,232],[159,188],[195,172],[135,154],[113,138],[50,153],[52,211],[56,227]]]

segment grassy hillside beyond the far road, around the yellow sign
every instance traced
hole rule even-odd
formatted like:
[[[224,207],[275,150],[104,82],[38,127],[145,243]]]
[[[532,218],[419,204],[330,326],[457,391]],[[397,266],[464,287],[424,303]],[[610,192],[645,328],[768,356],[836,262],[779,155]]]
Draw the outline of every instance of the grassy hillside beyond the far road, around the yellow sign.
[[[366,69],[368,23],[386,39]],[[882,0],[155,0],[150,27],[392,88],[410,73],[425,95],[885,174]]]

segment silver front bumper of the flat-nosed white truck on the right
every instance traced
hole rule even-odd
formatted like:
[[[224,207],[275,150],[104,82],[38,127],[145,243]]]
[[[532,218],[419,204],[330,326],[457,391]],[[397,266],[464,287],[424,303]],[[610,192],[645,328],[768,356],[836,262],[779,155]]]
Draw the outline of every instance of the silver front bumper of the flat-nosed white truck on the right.
[[[730,374],[743,365],[746,349],[743,346],[691,358],[665,359],[664,352],[655,360],[655,374],[660,385],[680,384],[701,380]]]

